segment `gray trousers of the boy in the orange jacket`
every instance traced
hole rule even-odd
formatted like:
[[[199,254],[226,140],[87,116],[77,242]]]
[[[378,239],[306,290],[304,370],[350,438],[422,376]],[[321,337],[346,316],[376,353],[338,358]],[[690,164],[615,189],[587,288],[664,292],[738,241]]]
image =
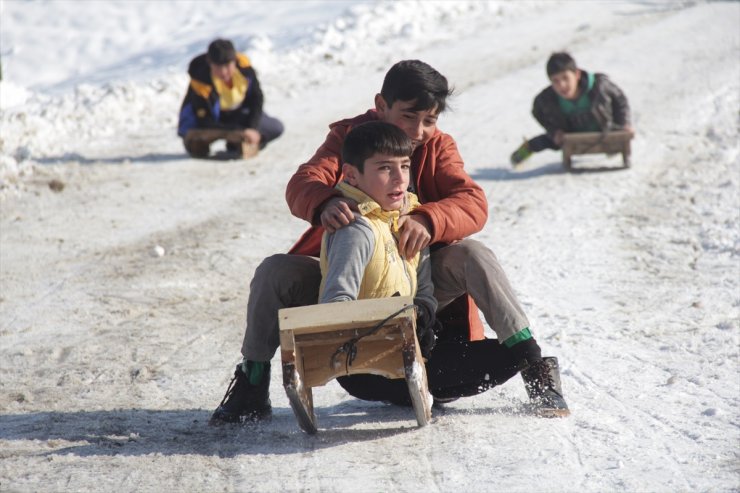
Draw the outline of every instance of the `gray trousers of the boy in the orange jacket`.
[[[438,310],[468,293],[499,341],[529,327],[498,259],[483,243],[462,240],[435,250],[431,257]],[[270,361],[280,346],[278,310],[316,304],[320,284],[316,257],[277,254],[263,260],[250,284],[242,356]]]

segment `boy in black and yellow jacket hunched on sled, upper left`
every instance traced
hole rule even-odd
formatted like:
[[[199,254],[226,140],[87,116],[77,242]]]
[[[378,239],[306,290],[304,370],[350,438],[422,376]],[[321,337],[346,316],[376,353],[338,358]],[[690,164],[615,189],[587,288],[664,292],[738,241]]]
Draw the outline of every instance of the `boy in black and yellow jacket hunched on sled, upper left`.
[[[262,110],[264,97],[249,58],[231,41],[212,41],[207,53],[190,62],[188,74],[177,134],[191,156],[208,157],[210,145],[223,139],[227,151],[251,157],[283,133],[280,120]]]

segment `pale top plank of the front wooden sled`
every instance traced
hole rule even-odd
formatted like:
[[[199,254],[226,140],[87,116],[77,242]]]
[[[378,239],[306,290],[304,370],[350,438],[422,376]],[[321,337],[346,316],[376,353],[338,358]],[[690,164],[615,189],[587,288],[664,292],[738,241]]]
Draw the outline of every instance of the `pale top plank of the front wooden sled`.
[[[278,317],[280,330],[296,333],[325,332],[327,329],[343,329],[373,326],[391,313],[405,306],[412,306],[413,298],[395,296],[370,300],[345,301],[322,305],[283,308]],[[403,318],[405,312],[394,317]]]

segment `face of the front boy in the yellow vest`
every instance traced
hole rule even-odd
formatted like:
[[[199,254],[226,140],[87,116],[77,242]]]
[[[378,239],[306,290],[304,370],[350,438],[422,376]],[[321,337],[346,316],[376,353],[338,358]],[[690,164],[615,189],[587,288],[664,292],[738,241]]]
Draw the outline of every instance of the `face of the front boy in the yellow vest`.
[[[364,172],[351,164],[344,164],[344,175],[353,187],[357,187],[375,200],[386,211],[398,210],[403,206],[409,187],[411,159],[387,154],[373,154],[365,160]]]

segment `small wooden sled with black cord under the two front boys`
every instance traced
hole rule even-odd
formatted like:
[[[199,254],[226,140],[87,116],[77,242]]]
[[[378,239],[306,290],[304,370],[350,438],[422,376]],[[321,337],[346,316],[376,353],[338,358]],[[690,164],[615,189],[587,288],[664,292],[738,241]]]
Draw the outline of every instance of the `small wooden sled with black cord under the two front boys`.
[[[358,373],[405,378],[416,422],[429,423],[432,396],[416,339],[412,298],[284,308],[278,317],[283,386],[306,433],[317,431],[313,387]]]

